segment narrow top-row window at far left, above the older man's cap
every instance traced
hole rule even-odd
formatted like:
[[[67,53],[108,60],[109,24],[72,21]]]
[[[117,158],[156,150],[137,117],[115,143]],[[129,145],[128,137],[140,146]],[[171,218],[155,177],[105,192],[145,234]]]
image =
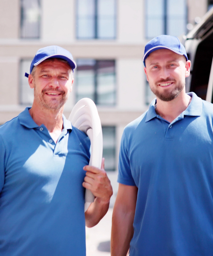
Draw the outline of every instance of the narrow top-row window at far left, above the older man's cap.
[[[21,38],[40,38],[40,0],[21,1]]]

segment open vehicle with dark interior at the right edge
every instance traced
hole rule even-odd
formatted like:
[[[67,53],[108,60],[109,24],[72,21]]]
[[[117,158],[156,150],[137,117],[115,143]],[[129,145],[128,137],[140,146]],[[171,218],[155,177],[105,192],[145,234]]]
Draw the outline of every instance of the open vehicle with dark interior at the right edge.
[[[184,39],[192,62],[191,74],[186,79],[186,92],[195,92],[200,98],[213,103],[213,8]]]

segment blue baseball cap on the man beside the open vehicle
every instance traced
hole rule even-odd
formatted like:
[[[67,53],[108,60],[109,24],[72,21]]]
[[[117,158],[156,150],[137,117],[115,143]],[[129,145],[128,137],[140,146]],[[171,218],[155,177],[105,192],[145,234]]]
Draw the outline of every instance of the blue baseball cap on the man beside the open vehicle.
[[[160,35],[153,38],[145,46],[144,55],[143,55],[143,64],[145,67],[146,67],[145,60],[149,56],[149,54],[159,49],[169,49],[177,54],[184,55],[186,60],[188,61],[186,49],[184,48],[184,46],[176,36]]]

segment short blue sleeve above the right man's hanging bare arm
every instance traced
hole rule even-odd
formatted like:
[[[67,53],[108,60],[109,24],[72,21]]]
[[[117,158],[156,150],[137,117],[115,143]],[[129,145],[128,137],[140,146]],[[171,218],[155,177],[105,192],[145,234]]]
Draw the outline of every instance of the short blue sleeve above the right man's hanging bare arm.
[[[118,168],[118,182],[124,185],[136,186],[131,174],[128,142],[125,131],[121,138],[120,152],[119,152],[119,168]]]

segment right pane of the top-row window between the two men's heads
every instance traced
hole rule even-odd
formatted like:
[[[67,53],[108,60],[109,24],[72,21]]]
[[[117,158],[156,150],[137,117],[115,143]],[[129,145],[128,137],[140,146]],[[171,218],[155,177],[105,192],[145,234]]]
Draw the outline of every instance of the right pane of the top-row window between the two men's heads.
[[[99,0],[97,16],[97,37],[115,38],[115,0]]]

